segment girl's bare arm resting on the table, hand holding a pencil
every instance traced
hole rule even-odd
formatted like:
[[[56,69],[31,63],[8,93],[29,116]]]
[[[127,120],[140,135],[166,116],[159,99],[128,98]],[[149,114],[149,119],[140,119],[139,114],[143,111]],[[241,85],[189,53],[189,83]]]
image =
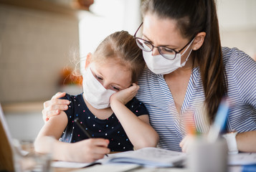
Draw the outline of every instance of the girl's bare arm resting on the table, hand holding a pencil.
[[[39,153],[52,153],[54,160],[93,162],[103,158],[109,153],[109,140],[93,138],[77,143],[64,143],[58,139],[67,126],[67,115],[62,111],[60,115],[52,116],[44,123],[34,142],[35,151]],[[52,138],[49,139],[49,136]],[[50,147],[50,148],[49,148]]]

